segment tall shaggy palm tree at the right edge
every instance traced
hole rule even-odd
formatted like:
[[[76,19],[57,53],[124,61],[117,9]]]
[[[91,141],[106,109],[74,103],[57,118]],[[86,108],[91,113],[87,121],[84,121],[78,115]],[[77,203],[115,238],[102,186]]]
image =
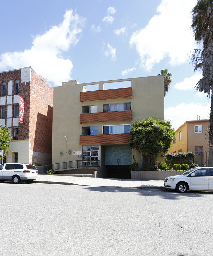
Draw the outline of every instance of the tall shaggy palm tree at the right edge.
[[[209,118],[209,166],[213,166],[213,2],[200,0],[192,9],[192,25],[197,43],[203,43],[202,50],[194,50],[192,62],[194,70],[202,69],[203,77],[195,88],[211,96],[211,110]]]

